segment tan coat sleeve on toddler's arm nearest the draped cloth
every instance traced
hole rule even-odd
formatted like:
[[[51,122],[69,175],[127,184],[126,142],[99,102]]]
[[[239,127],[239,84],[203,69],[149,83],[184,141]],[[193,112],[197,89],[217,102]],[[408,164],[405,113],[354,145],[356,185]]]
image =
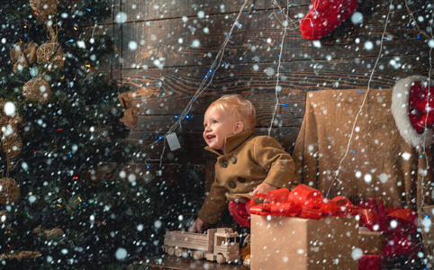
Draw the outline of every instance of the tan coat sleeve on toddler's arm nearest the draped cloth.
[[[253,157],[258,165],[267,171],[267,177],[262,183],[288,189],[298,184],[294,177],[293,157],[285,152],[276,139],[267,136],[257,137]]]

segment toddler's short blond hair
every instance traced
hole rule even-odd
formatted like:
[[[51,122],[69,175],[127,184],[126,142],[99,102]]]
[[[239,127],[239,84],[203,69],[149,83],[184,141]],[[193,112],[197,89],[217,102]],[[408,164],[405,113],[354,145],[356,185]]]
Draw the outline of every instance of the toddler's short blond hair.
[[[208,108],[215,107],[231,114],[235,121],[242,121],[244,130],[253,131],[256,124],[255,107],[240,94],[225,94],[211,103]]]

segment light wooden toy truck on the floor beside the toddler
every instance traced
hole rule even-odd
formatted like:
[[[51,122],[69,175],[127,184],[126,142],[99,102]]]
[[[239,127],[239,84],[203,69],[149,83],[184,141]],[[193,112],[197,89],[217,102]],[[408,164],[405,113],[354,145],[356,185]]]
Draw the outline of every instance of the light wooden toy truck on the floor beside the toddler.
[[[176,257],[205,257],[222,264],[240,260],[240,246],[236,242],[238,232],[231,228],[208,229],[206,234],[171,230],[166,232],[163,250]]]

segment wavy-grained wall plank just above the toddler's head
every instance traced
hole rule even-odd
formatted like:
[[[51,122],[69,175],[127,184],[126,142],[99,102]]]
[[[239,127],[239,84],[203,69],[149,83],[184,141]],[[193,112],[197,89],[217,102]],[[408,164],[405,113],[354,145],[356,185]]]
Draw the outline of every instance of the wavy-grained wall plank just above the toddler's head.
[[[370,89],[391,88],[397,80],[414,74],[427,75],[427,61],[417,56],[402,55],[379,58],[354,58],[330,61],[284,62],[280,66],[280,78],[277,87],[279,110],[290,112],[285,117],[296,113],[296,118],[303,117],[304,98],[308,91],[334,89]],[[375,67],[375,63],[377,65]],[[373,68],[375,70],[373,72]],[[206,95],[243,94],[252,102],[262,105],[268,103],[273,107],[276,95],[277,64],[239,64],[231,68],[216,71],[212,84],[203,92],[189,112],[202,115],[206,108],[201,98]],[[202,72],[200,72],[202,71]],[[122,83],[129,84],[137,90],[134,105],[140,114],[180,115],[192,96],[203,82],[206,68],[167,67],[160,69],[129,69],[122,72]],[[373,74],[372,79],[370,79]],[[201,76],[202,75],[202,76]],[[263,94],[255,102],[258,94]],[[296,96],[299,94],[300,96]],[[267,98],[264,99],[264,96]],[[259,102],[260,101],[260,102]],[[260,111],[260,108],[259,108]],[[268,111],[271,112],[271,111]],[[270,114],[271,116],[271,114]],[[261,125],[266,122],[259,119]],[[297,122],[297,125],[300,121]]]

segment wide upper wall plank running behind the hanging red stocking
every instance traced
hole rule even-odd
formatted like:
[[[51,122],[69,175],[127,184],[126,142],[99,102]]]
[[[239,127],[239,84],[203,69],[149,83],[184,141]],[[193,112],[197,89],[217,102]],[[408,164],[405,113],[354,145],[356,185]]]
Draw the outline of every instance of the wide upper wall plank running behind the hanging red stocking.
[[[305,5],[289,9],[289,18],[294,24],[289,25],[285,33],[281,56],[285,62],[376,57],[385,26],[384,56],[419,55],[420,49],[427,47],[426,41],[420,39],[419,31],[409,24],[410,17],[404,7],[391,11],[387,25],[384,16],[388,13],[387,3],[360,7],[363,23],[355,24],[348,20],[318,41],[304,40],[298,27],[301,14],[308,10]],[[187,21],[181,18],[182,15],[177,15],[166,20],[124,23],[123,68],[211,66],[237,15],[195,16]],[[223,62],[276,62],[284,35],[280,23],[283,19],[278,10],[255,9],[243,13],[231,34]],[[420,24],[422,29],[427,26],[423,22]],[[137,44],[137,48],[130,47],[131,42]],[[372,44],[372,49],[369,44]],[[428,50],[424,53],[428,54]]]

